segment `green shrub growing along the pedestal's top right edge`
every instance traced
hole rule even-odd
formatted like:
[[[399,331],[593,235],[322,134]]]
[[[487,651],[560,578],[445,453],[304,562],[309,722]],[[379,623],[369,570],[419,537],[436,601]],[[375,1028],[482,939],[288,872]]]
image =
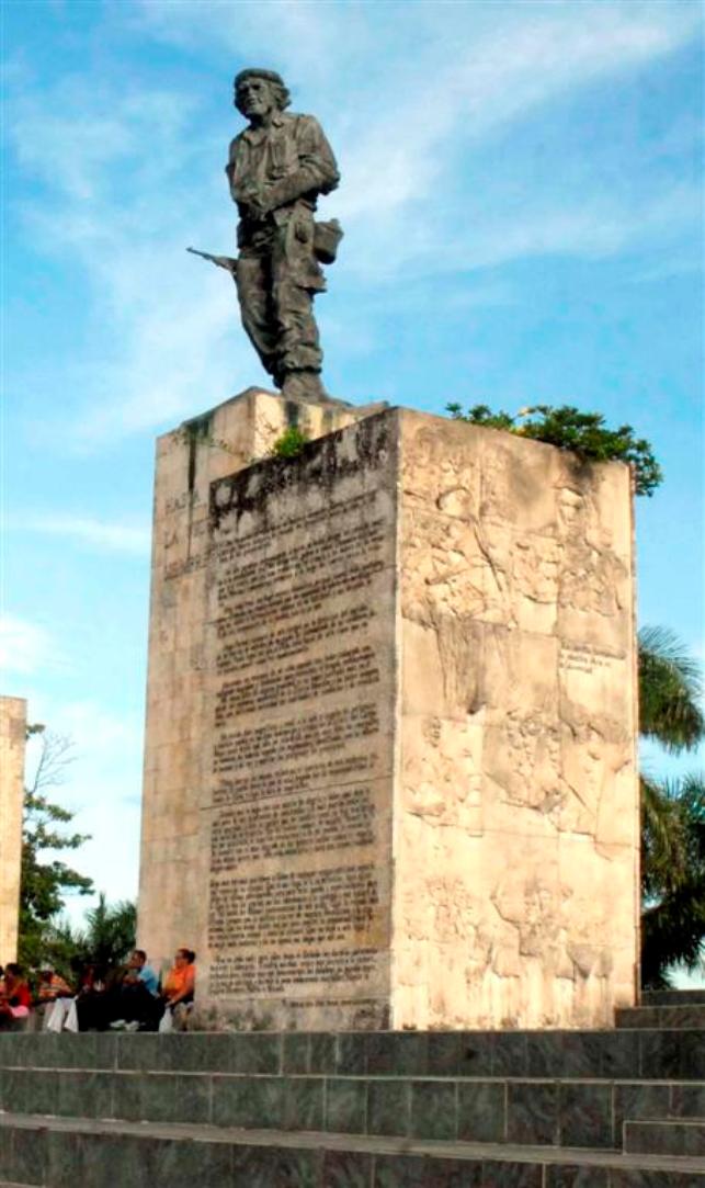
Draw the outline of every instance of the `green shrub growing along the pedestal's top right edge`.
[[[635,437],[631,425],[608,429],[599,412],[580,412],[570,404],[554,409],[535,404],[521,409],[516,417],[508,412],[493,412],[487,404],[475,404],[463,412],[459,404],[446,404],[453,421],[465,421],[485,429],[504,429],[520,437],[547,442],[558,449],[569,449],[588,462],[628,462],[634,474],[637,495],[652,495],[663,481],[661,467],[650,443]]]

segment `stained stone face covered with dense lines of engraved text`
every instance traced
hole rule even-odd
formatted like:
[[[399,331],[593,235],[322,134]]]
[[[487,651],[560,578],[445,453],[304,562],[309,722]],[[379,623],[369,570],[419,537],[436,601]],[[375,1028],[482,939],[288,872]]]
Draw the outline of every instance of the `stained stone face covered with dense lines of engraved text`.
[[[388,428],[211,487],[208,993],[281,1024],[388,1004]]]

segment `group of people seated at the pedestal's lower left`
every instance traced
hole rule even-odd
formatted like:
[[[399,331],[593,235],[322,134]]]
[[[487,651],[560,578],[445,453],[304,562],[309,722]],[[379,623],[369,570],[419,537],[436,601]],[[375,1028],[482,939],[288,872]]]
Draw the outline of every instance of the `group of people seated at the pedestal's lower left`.
[[[144,949],[127,965],[85,965],[75,986],[55,969],[39,971],[34,992],[15,962],[0,967],[0,1030],[20,1030],[34,1016],[49,1031],[171,1031],[185,1025],[196,988],[196,954],[177,949],[160,980]]]

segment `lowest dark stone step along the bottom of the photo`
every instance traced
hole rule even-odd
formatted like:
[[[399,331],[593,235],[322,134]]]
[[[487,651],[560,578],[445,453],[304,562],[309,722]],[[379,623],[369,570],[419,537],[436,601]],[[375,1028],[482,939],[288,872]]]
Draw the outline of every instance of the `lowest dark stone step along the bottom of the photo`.
[[[0,1116],[25,1188],[694,1188],[700,1158]],[[2,1181],[0,1181],[2,1182]]]

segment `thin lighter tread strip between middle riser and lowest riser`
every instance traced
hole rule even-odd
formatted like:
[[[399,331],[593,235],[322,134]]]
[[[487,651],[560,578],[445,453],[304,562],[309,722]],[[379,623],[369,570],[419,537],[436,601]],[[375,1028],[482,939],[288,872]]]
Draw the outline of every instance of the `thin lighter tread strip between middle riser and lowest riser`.
[[[598,1151],[585,1148],[546,1148],[498,1143],[458,1143],[439,1139],[408,1139],[382,1136],[351,1136],[322,1131],[244,1130],[243,1127],[196,1126],[184,1123],[129,1123],[110,1119],[55,1118],[45,1114],[0,1113],[0,1127],[46,1130],[68,1133],[132,1136],[138,1138],[185,1139],[228,1143],[233,1146],[275,1146],[356,1151],[371,1155],[418,1155],[449,1159],[489,1159],[497,1163],[542,1163],[629,1169],[636,1171],[681,1171],[701,1176],[703,1159],[691,1156]]]

